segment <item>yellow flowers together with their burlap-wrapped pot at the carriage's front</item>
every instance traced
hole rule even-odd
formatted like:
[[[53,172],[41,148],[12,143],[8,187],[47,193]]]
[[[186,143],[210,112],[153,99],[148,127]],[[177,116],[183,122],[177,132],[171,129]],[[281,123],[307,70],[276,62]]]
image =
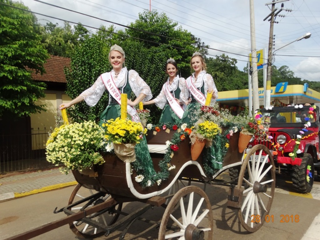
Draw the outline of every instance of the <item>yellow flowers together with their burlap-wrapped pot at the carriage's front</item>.
[[[136,160],[135,145],[140,142],[147,129],[140,123],[128,119],[110,119],[102,125],[106,128],[106,139],[112,142],[116,155],[124,162]]]

